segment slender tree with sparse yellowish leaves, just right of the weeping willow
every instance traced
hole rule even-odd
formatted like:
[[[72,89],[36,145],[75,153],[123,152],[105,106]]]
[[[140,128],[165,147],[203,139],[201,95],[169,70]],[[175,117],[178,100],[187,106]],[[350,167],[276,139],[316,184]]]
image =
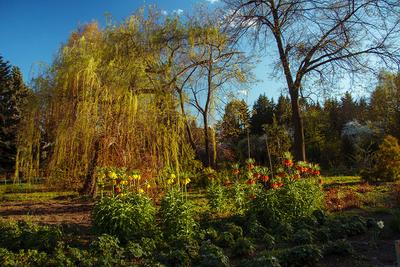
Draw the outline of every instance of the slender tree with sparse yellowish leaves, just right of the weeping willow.
[[[214,156],[210,153],[210,116],[227,90],[239,89],[251,81],[250,57],[236,46],[235,40],[223,31],[222,24],[211,15],[197,15],[190,25],[194,33],[190,60],[197,69],[193,72],[186,92],[189,103],[202,117],[204,130],[204,147],[209,166],[215,165]]]

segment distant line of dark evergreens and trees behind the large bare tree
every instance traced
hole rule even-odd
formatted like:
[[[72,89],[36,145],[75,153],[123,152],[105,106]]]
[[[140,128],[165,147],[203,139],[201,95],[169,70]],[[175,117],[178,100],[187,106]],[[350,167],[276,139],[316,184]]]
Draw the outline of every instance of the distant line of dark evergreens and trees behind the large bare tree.
[[[369,96],[355,99],[346,92],[340,99],[320,103],[301,100],[307,160],[324,169],[354,172],[364,168],[384,136],[400,138],[400,74],[382,72]],[[276,162],[282,152],[293,148],[290,99],[281,95],[275,102],[260,95],[252,110],[243,100],[232,100],[218,123],[222,158],[250,155],[267,163],[266,146]]]

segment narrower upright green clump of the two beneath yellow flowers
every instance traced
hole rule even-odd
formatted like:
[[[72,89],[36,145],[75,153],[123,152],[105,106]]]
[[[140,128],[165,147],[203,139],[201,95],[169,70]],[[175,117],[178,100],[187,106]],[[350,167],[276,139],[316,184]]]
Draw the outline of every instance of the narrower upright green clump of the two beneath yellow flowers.
[[[160,217],[167,239],[192,238],[197,223],[194,209],[179,188],[172,188],[161,201]]]

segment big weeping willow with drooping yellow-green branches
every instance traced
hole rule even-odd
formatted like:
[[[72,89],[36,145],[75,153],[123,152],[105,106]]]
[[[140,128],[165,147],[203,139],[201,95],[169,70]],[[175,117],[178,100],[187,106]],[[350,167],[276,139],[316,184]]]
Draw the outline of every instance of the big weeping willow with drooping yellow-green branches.
[[[92,23],[70,36],[37,79],[16,176],[43,176],[50,185],[93,194],[96,166],[154,177],[190,163],[171,73],[149,71],[165,57],[157,41],[163,27],[156,15],[139,12],[120,25],[99,30]]]

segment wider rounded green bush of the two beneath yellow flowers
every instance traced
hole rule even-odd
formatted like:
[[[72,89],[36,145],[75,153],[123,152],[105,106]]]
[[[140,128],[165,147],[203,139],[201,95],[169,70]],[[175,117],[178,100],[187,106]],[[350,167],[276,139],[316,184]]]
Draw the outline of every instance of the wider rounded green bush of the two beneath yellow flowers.
[[[118,237],[121,242],[154,236],[156,209],[141,194],[105,197],[93,208],[92,221],[97,233]]]

